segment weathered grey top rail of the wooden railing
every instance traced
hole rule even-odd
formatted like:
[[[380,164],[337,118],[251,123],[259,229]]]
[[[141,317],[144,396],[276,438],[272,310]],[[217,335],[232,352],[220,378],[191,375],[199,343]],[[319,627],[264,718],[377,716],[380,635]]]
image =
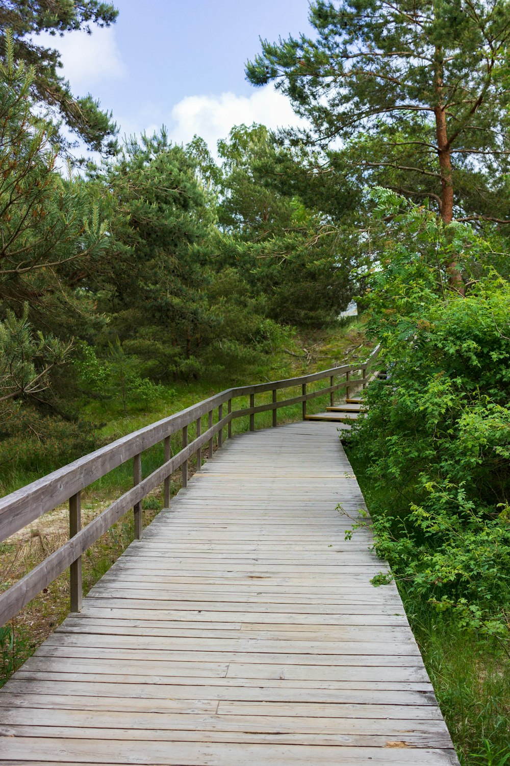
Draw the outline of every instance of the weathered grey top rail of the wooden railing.
[[[74,460],[73,463],[48,473],[47,476],[42,476],[41,479],[0,498],[0,542],[30,524],[34,519],[38,519],[45,512],[66,502],[71,496],[122,465],[126,460],[158,444],[165,437],[196,421],[198,417],[218,407],[219,404],[240,396],[271,391],[274,388],[291,388],[294,385],[311,383],[331,375],[362,370],[370,364],[378,351],[379,346],[376,346],[365,362],[353,362],[351,365],[332,367],[310,375],[300,375],[297,378],[227,388],[219,394],[192,404],[185,410],[164,417],[161,421],[151,423],[111,444],[106,444],[105,447],[100,447],[99,450],[88,453]]]

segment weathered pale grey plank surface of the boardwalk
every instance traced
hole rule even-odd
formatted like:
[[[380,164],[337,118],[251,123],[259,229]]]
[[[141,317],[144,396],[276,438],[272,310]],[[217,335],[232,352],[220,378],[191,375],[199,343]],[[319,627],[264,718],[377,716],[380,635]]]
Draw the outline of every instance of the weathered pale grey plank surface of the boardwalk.
[[[0,692],[0,761],[456,764],[336,424],[227,441]]]

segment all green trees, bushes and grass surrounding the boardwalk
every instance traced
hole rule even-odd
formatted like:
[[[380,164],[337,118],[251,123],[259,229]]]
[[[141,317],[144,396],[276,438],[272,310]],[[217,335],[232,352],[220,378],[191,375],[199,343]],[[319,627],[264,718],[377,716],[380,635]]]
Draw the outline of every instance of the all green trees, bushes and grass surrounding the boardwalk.
[[[0,8],[0,489],[222,388],[364,356],[366,329],[387,375],[349,443],[372,516],[355,526],[391,563],[463,764],[510,764],[510,2],[313,2],[315,38],[265,41],[247,64],[307,127],[235,126],[219,162],[164,129],[119,146],[28,42],[116,11],[50,5]],[[55,115],[102,151],[83,177],[57,169]],[[365,316],[344,327],[353,296]],[[144,473],[161,459],[148,450]],[[131,473],[89,488],[91,518]],[[148,519],[160,506],[146,499]],[[4,582],[58,547],[54,522],[5,544]],[[87,555],[88,583],[130,524]],[[14,641],[2,629],[4,672],[66,588]]]

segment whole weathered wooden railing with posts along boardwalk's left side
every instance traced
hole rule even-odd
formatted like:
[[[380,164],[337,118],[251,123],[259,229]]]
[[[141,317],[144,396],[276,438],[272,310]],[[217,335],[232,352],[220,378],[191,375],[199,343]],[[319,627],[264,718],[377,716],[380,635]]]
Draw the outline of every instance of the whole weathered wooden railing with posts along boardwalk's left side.
[[[217,434],[218,447],[223,444],[223,430],[227,436],[232,436],[232,421],[236,417],[249,415],[249,430],[255,430],[255,415],[260,412],[272,411],[272,425],[277,425],[279,408],[291,404],[302,403],[303,417],[307,414],[307,401],[330,394],[330,403],[336,391],[344,388],[346,395],[352,395],[357,388],[365,388],[369,382],[369,371],[378,355],[378,347],[372,351],[365,362],[354,362],[352,365],[334,367],[312,375],[301,375],[299,378],[287,378],[281,381],[271,381],[258,385],[229,388],[209,399],[193,404],[186,410],[177,412],[170,417],[141,428],[128,436],[118,439],[112,444],[95,452],[80,457],[73,463],[59,468],[42,479],[28,484],[16,492],[0,499],[0,542],[10,535],[19,532],[26,525],[39,519],[44,513],[56,508],[63,502],[69,502],[70,539],[57,551],[49,555],[41,564],[35,566],[28,575],[11,585],[7,591],[0,594],[0,626],[14,617],[34,596],[54,581],[59,575],[70,569],[70,610],[80,611],[82,604],[82,566],[81,556],[93,545],[121,516],[129,509],[134,510],[135,538],[140,539],[141,501],[158,485],[164,485],[164,507],[170,505],[171,475],[182,468],[182,483],[187,486],[188,460],[193,454],[197,455],[197,469],[202,465],[202,448],[208,445],[208,455],[213,456],[213,440]],[[355,375],[352,377],[352,375]],[[356,377],[357,375],[357,377]],[[338,381],[342,376],[343,380]],[[318,391],[308,391],[307,386],[314,381],[329,378],[326,388]],[[282,388],[301,386],[301,394],[278,401],[278,391]],[[272,401],[255,406],[255,396],[267,391],[272,392]],[[249,408],[232,409],[232,401],[239,397],[249,396]],[[226,404],[226,414],[223,405]],[[213,424],[213,411],[218,410],[218,420]],[[202,417],[208,416],[207,430],[202,433]],[[196,424],[196,436],[188,442],[188,427]],[[182,449],[171,456],[171,436],[182,430]],[[142,480],[141,454],[154,447],[164,444],[164,463],[157,470]],[[82,529],[80,499],[83,489],[105,476],[109,471],[121,466],[128,460],[133,460],[133,487],[112,502],[96,519]]]

